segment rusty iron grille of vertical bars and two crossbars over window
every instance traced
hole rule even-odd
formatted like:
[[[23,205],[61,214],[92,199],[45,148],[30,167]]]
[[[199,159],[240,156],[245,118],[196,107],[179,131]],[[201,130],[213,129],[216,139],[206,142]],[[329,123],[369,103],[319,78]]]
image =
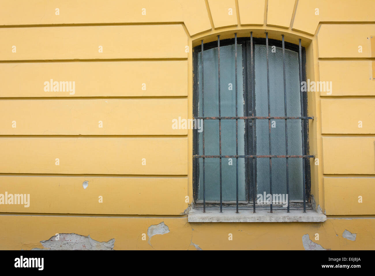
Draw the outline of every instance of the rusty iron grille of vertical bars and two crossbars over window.
[[[193,158],[202,158],[203,159],[203,212],[205,213],[205,158],[219,158],[220,159],[220,213],[222,213],[222,158],[236,158],[236,213],[239,211],[239,195],[238,195],[238,158],[252,158],[253,161],[253,212],[255,213],[255,190],[256,190],[256,166],[257,158],[269,158],[270,160],[270,193],[272,194],[272,158],[285,158],[286,159],[286,169],[287,169],[287,195],[289,195],[289,168],[288,168],[288,158],[302,158],[302,175],[303,175],[303,212],[306,213],[306,176],[305,176],[305,159],[314,158],[314,155],[306,155],[305,148],[305,120],[314,119],[305,115],[303,99],[305,95],[302,92],[301,85],[303,81],[302,75],[302,44],[301,39],[299,39],[299,79],[300,79],[300,108],[301,116],[287,116],[287,92],[286,92],[286,77],[285,77],[285,42],[284,35],[282,35],[282,53],[283,53],[283,80],[284,80],[284,109],[285,116],[271,116],[270,114],[270,84],[269,84],[269,49],[268,49],[268,33],[266,32],[266,60],[267,60],[267,98],[268,98],[268,115],[269,116],[256,116],[254,101],[255,101],[255,89],[254,89],[254,58],[253,58],[253,36],[252,32],[250,33],[251,41],[251,91],[252,91],[252,103],[251,103],[251,112],[254,116],[238,116],[238,97],[237,97],[237,33],[234,34],[235,41],[235,87],[236,87],[236,116],[221,116],[220,108],[220,35],[217,36],[217,52],[218,52],[218,99],[219,99],[219,116],[216,117],[205,117],[204,116],[204,67],[203,67],[203,40],[201,40],[201,68],[202,68],[202,116],[194,116],[194,119],[202,119],[202,154],[203,155],[193,155]],[[219,155],[205,155],[204,154],[204,120],[219,120]],[[222,119],[235,119],[236,120],[236,155],[222,155],[221,154],[221,120]],[[252,120],[252,133],[253,133],[253,148],[252,151],[255,151],[255,121],[257,119],[268,119],[269,120],[269,155],[239,155],[238,154],[238,120],[244,119]],[[285,155],[272,155],[271,149],[271,119],[284,119],[285,120]],[[288,155],[288,132],[287,132],[287,120],[298,119],[301,120],[302,127],[302,155]],[[308,124],[306,124],[308,128]],[[287,212],[290,211],[290,202],[288,196],[288,208]],[[270,212],[272,213],[272,202],[270,204]]]

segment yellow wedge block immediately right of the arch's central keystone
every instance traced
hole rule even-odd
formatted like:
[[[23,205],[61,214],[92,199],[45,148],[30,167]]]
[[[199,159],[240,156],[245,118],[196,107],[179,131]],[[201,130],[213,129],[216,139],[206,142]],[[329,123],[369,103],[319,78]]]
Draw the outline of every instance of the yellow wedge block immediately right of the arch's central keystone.
[[[267,25],[289,28],[296,0],[268,0]]]

